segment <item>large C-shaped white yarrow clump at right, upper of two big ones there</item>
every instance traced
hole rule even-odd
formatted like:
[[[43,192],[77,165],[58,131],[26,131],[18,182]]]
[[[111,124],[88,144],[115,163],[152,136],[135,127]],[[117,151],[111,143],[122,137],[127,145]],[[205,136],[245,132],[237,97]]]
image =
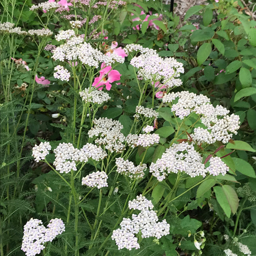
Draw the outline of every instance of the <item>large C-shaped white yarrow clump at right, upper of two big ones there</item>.
[[[172,104],[176,98],[177,103]],[[227,143],[239,129],[238,115],[229,116],[229,110],[220,105],[214,107],[210,104],[209,98],[202,94],[196,95],[187,91],[168,93],[163,96],[163,102],[171,105],[172,111],[180,119],[193,112],[201,116],[201,123],[206,128],[195,128],[190,134],[192,140],[199,144],[212,144],[216,141]]]

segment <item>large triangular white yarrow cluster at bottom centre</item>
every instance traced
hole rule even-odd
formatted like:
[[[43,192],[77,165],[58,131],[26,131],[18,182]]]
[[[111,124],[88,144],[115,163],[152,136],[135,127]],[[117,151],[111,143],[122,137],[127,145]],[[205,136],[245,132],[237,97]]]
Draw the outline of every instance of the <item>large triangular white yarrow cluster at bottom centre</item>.
[[[128,207],[139,210],[140,213],[133,214],[131,218],[123,218],[120,223],[121,228],[113,230],[111,238],[116,241],[118,250],[140,248],[138,238],[135,236],[138,233],[142,238],[156,237],[157,239],[169,234],[170,225],[165,219],[162,222],[158,221],[157,213],[152,210],[152,202],[144,196],[140,195],[129,201]]]

